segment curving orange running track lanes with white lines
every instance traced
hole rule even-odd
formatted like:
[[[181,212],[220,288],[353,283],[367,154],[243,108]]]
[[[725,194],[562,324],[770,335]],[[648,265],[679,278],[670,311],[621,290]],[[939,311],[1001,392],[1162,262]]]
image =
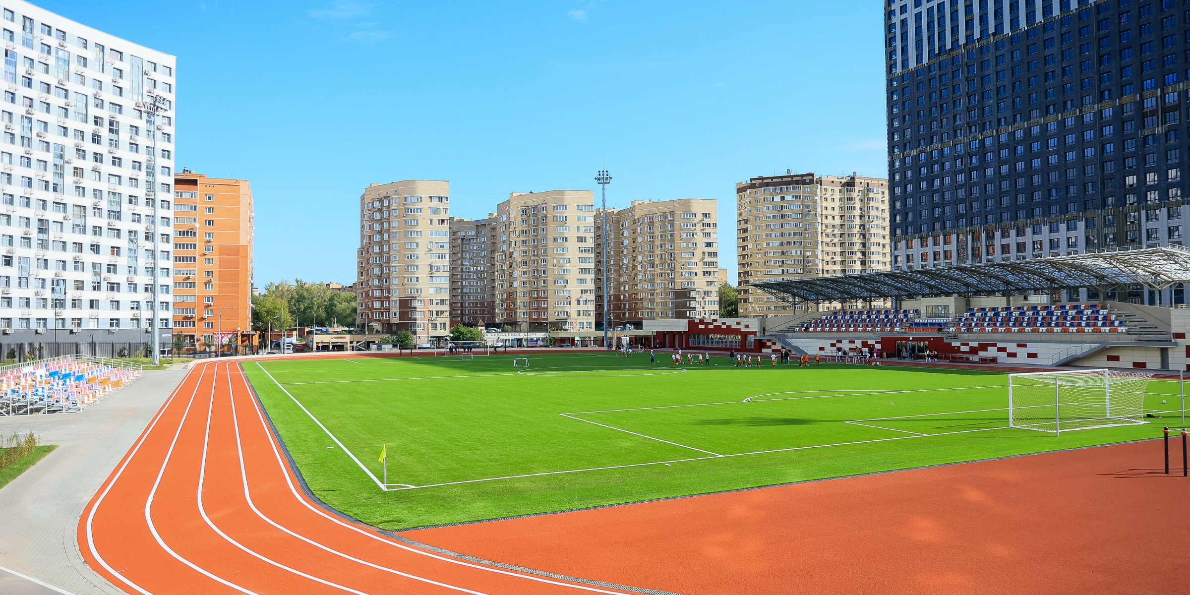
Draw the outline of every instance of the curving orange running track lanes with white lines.
[[[193,367],[83,511],[83,557],[137,594],[613,594],[412,547],[300,490],[238,364]]]

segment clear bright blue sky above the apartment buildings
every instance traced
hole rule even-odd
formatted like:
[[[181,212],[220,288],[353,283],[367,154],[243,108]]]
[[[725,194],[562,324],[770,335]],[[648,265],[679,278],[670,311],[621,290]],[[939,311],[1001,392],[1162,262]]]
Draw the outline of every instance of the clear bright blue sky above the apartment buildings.
[[[734,282],[737,182],[888,170],[875,0],[36,4],[177,56],[177,167],[251,181],[261,287],[355,281],[374,182],[482,217],[606,164],[610,206],[718,199]]]

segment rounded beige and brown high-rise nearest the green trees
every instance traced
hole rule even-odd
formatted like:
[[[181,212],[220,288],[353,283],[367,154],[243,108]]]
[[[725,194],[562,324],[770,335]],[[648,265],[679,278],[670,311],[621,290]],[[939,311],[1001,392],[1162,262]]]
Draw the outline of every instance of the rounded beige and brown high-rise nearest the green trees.
[[[418,343],[449,334],[450,257],[450,182],[369,186],[359,198],[359,326],[409,331]]]

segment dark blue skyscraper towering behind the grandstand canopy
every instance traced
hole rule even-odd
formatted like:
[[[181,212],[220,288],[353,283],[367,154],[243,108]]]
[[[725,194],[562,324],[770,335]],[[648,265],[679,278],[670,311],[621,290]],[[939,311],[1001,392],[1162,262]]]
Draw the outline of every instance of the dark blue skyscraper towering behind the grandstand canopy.
[[[1182,244],[1190,1],[885,11],[895,269]]]

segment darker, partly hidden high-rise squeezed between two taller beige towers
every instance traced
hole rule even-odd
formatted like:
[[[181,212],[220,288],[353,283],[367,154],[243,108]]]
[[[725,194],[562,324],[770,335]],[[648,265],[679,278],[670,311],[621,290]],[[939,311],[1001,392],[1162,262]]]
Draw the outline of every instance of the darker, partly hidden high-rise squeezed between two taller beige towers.
[[[451,324],[496,325],[496,233],[500,218],[450,221]]]

